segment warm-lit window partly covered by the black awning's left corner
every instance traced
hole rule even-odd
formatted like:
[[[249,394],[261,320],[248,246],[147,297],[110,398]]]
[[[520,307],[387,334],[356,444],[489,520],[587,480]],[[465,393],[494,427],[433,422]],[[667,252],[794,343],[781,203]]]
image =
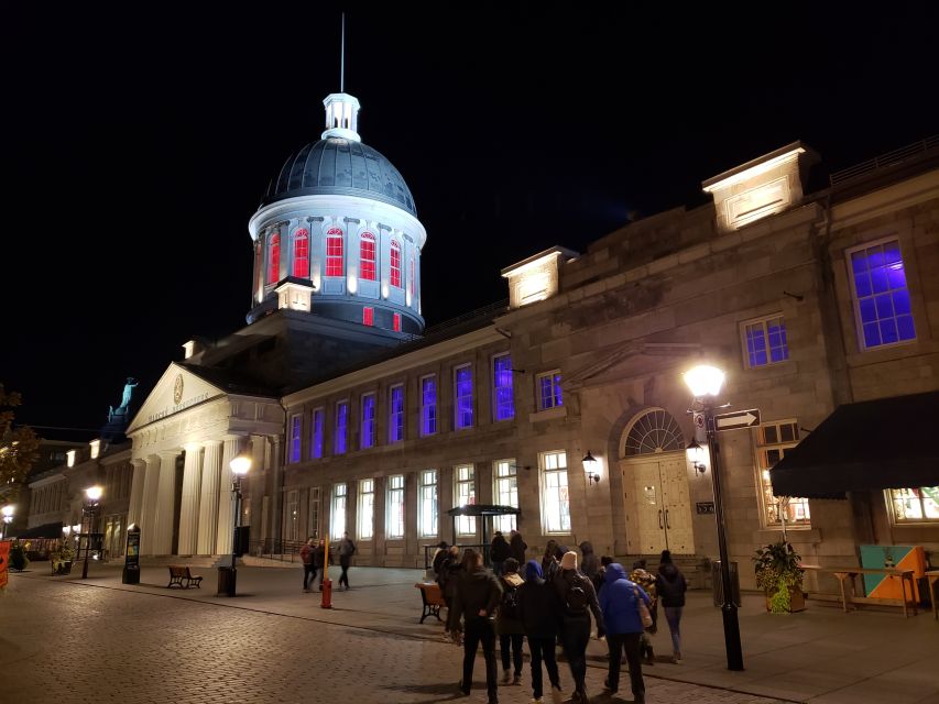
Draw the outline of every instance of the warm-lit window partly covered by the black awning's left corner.
[[[776,497],[769,482],[769,470],[798,443],[799,424],[795,420],[766,421],[756,429],[756,471],[762,490],[763,525],[767,528],[782,526],[784,518],[787,528],[811,527],[809,499]]]

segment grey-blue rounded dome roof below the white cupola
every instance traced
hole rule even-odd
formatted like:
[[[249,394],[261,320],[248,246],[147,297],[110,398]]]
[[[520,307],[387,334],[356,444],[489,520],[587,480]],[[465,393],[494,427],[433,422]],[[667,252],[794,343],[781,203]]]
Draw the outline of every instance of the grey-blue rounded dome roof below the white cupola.
[[[320,195],[361,196],[417,215],[398,170],[371,146],[354,140],[329,136],[292,154],[267,187],[263,205]]]

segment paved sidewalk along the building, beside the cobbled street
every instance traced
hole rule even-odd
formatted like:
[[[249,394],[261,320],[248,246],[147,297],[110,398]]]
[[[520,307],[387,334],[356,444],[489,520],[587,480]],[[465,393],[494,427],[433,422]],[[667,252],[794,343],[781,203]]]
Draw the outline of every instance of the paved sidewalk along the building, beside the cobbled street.
[[[319,593],[302,592],[299,566],[239,568],[238,596],[233,598],[216,594],[217,578],[208,568],[193,568],[195,574],[205,575],[200,590],[167,590],[166,566],[144,566],[140,585],[121,584],[120,566],[114,564],[92,565],[88,580],[84,581],[80,572],[68,578],[51,578],[44,572],[44,563],[34,563],[32,568],[32,572],[14,574],[12,579],[67,581],[89,587],[145,592],[441,641],[443,627],[436,619],[428,618],[423,625],[417,623],[421,596],[414,583],[422,581],[419,570],[352,568],[352,588],[334,592],[334,608],[324,609]],[[329,574],[335,585],[339,570],[330,570]],[[644,668],[649,692],[653,683],[665,686],[670,681],[725,690],[724,697],[731,697],[730,693],[734,692],[812,704],[939,702],[939,623],[932,619],[931,613],[920,612],[906,619],[898,609],[843,614],[840,607],[810,602],[806,612],[772,615],[765,612],[761,596],[744,595],[743,601],[740,609],[743,672],[727,670],[721,615],[713,607],[710,593],[690,592],[681,623],[685,660],[680,666],[665,661],[664,656],[670,654],[670,640],[663,623],[663,629],[653,637],[660,661]],[[452,653],[457,661],[459,658],[454,650],[445,649],[444,652]],[[604,652],[602,641],[591,641],[588,656],[593,692],[599,692],[602,683]],[[481,668],[481,661],[478,667]],[[478,674],[481,672],[477,670]],[[669,695],[651,701],[684,700]],[[734,696],[721,701],[754,700]]]

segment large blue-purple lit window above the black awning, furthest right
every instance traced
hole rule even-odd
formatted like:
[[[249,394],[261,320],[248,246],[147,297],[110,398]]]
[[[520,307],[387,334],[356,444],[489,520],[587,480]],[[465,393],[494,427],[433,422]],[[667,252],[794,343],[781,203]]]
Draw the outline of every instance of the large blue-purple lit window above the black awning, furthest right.
[[[849,257],[862,345],[870,350],[915,340],[899,241],[866,245]]]

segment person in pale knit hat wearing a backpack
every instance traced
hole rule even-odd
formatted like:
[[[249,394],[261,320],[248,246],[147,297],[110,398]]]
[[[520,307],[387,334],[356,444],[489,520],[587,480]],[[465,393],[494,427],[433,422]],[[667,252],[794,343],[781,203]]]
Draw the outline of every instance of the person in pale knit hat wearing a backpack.
[[[597,622],[597,635],[605,632],[603,614],[593,583],[577,569],[577,553],[566,552],[554,578],[561,603],[560,639],[574,678],[575,704],[587,704],[587,644],[590,641],[590,613]]]

